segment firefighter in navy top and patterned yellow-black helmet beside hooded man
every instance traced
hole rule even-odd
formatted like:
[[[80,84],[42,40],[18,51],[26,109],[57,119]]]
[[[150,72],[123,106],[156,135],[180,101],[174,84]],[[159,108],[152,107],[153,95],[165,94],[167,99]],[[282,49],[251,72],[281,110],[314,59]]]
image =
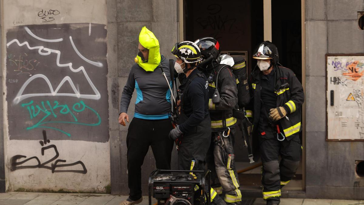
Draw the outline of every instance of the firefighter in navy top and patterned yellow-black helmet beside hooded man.
[[[179,73],[181,94],[178,126],[171,130],[170,138],[179,141],[178,169],[205,170],[205,159],[210,144],[211,120],[209,116],[209,89],[205,75],[197,69],[202,60],[199,47],[190,41],[176,43],[171,53],[177,58],[174,68]],[[177,103],[178,104],[178,103]],[[192,173],[191,173],[192,174]],[[196,185],[195,190],[199,189]],[[210,190],[213,204],[225,204],[217,193]]]

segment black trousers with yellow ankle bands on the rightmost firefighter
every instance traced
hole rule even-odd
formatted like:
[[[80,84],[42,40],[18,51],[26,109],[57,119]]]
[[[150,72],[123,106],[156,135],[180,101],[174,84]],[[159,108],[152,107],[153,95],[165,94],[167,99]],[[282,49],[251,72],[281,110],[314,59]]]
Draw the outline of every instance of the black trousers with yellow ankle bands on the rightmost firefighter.
[[[281,187],[286,185],[300,165],[302,146],[299,134],[288,136],[283,141],[277,139],[277,129],[261,123],[259,126],[260,154],[263,163],[263,199],[267,204],[279,204]],[[282,129],[281,129],[282,130]],[[280,134],[279,139],[283,139]],[[281,156],[281,161],[279,161]]]

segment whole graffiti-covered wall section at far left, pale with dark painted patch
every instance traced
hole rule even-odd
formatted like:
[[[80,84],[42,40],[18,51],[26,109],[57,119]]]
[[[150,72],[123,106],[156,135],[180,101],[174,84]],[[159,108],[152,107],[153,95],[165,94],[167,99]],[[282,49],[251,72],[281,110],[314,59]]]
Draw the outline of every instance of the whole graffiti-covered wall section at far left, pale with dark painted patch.
[[[6,189],[106,192],[106,1],[2,3]]]

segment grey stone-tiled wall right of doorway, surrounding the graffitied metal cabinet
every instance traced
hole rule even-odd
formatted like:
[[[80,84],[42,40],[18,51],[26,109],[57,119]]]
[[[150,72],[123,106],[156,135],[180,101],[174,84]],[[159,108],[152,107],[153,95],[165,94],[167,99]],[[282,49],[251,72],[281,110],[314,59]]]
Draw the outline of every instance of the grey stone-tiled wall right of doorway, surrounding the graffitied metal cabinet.
[[[363,142],[326,142],[325,54],[364,53],[363,0],[306,0],[306,197],[364,199]]]

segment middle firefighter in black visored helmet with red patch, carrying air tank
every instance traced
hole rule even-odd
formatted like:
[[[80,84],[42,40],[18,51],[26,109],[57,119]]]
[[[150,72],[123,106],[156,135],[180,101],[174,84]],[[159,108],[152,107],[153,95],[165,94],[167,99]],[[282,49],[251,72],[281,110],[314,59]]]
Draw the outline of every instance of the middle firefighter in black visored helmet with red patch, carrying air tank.
[[[201,38],[195,43],[203,58],[199,68],[209,81],[211,143],[206,162],[211,170],[211,186],[226,204],[240,204],[241,192],[233,148],[237,125],[233,109],[238,102],[237,79],[231,69],[234,60],[229,55],[220,55],[219,42],[214,38]]]

